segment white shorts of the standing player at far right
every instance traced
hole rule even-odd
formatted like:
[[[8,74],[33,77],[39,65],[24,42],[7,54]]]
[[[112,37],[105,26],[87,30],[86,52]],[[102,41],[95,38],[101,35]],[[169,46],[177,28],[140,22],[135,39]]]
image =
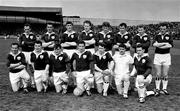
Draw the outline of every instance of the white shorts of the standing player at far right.
[[[154,64],[156,65],[171,65],[171,55],[170,54],[155,54]]]

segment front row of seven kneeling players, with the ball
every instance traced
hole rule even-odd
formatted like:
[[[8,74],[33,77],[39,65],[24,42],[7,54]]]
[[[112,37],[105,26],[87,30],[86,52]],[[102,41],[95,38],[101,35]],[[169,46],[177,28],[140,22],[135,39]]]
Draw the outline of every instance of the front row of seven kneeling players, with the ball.
[[[54,53],[48,56],[43,51],[42,42],[36,41],[34,51],[31,53],[31,64],[34,70],[34,79],[38,92],[47,90],[49,79],[49,66],[53,69],[53,82],[56,92],[67,92],[69,74],[75,77],[76,88],[73,93],[80,96],[84,91],[91,95],[90,89],[95,82],[98,93],[107,96],[111,77],[114,77],[115,85],[119,95],[128,98],[128,88],[130,85],[130,76],[136,77],[136,87],[139,95],[139,101],[144,102],[147,95],[146,86],[151,82],[151,60],[144,55],[142,45],[136,47],[137,55],[134,59],[126,54],[126,46],[119,45],[119,54],[110,55],[105,50],[105,44],[98,44],[98,51],[93,55],[85,50],[85,42],[80,41],[77,44],[77,51],[70,59],[60,44],[55,45]],[[134,67],[130,72],[131,65]],[[22,79],[24,91],[27,90],[27,82],[30,79],[26,72],[25,56],[19,51],[19,45],[12,43],[11,52],[8,55],[8,64],[10,71],[10,82],[14,92],[19,90],[19,81]],[[72,72],[72,73],[71,73]]]

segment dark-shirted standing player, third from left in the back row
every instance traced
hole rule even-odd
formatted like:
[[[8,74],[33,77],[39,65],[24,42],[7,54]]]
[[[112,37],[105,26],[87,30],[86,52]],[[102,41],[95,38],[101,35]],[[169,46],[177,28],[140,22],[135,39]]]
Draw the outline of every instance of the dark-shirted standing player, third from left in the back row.
[[[71,58],[72,54],[76,51],[77,41],[78,41],[78,34],[73,31],[73,23],[67,22],[66,23],[66,31],[63,33],[61,38],[61,45],[64,48],[64,52],[68,54]]]

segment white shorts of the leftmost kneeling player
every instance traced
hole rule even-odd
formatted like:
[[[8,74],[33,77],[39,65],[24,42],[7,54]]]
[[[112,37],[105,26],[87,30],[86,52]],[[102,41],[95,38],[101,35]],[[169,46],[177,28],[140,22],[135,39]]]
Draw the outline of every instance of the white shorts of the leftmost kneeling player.
[[[14,84],[14,83],[19,82],[20,79],[25,79],[26,81],[28,81],[30,79],[30,76],[27,73],[26,69],[23,69],[22,71],[18,73],[9,72],[9,79],[10,79],[11,84]]]

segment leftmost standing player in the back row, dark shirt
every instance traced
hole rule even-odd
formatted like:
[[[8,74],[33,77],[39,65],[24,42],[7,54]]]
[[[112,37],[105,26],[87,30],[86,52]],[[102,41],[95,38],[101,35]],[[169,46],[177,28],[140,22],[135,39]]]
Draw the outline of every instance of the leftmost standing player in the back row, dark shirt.
[[[30,75],[32,75],[32,66],[30,62],[30,54],[34,50],[34,43],[36,41],[36,36],[31,32],[30,24],[24,25],[24,33],[19,37],[19,44],[22,49],[22,53],[25,55],[26,63],[27,63],[27,71]],[[31,77],[32,87],[35,88],[34,78]]]

